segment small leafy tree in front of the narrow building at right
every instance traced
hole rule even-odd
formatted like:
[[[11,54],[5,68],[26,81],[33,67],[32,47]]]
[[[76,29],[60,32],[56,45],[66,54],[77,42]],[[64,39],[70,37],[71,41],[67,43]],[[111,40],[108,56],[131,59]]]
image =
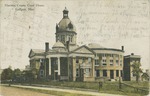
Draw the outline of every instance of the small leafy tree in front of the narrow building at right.
[[[139,81],[140,74],[142,73],[141,64],[139,62],[134,62],[132,65],[132,73],[136,77],[136,81]]]

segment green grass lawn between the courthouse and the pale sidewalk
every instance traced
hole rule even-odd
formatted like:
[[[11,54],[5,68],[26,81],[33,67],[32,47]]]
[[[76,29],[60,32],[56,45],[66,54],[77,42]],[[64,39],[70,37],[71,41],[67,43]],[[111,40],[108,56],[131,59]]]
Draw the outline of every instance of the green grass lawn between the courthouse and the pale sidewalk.
[[[123,81],[128,85],[132,85],[135,87],[139,87],[142,89],[149,90],[149,82],[135,82],[135,81]],[[43,85],[50,85],[50,86],[58,86],[58,87],[69,87],[69,88],[82,88],[84,90],[91,89],[98,91],[99,84],[98,82],[57,82],[57,81],[50,81],[50,82],[41,82],[36,81],[32,82],[32,84],[43,84]],[[110,82],[105,81],[103,82],[103,87],[99,90],[100,93],[110,93],[110,94],[122,94],[127,96],[144,96],[148,93],[141,93],[140,91],[135,91],[134,88],[122,85],[122,89],[119,89],[119,82]],[[74,95],[73,95],[74,96]]]

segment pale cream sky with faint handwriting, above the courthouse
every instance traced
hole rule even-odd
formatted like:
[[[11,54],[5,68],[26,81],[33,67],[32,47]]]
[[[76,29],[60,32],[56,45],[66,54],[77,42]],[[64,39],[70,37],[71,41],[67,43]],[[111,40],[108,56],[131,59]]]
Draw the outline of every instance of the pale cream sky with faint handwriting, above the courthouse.
[[[2,0],[0,67],[24,69],[31,49],[55,43],[55,26],[65,7],[76,26],[77,43],[98,43],[121,49],[124,55],[141,56],[143,69],[150,65],[148,0]]]

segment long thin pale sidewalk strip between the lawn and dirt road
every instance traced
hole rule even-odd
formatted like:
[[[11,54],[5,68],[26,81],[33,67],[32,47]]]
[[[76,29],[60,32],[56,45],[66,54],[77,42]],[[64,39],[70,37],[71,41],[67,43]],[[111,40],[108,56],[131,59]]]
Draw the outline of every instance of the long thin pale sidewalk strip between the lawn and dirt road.
[[[22,85],[11,85],[11,86],[20,87],[20,88],[29,88],[29,89],[33,88],[33,89],[69,92],[69,93],[77,93],[77,94],[85,94],[85,95],[93,95],[93,96],[123,96],[117,94],[107,94],[107,93],[80,91],[80,90],[73,90],[73,89],[62,89],[62,88],[47,88],[47,87],[22,86]]]

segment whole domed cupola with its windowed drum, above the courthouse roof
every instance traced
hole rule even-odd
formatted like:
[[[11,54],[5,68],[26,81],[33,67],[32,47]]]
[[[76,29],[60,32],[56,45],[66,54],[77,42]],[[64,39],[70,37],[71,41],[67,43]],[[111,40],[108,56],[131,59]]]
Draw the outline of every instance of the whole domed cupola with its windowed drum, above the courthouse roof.
[[[63,10],[63,18],[56,24],[56,42],[59,40],[65,46],[69,41],[69,45],[76,45],[76,28],[68,16],[68,9],[65,7]]]

